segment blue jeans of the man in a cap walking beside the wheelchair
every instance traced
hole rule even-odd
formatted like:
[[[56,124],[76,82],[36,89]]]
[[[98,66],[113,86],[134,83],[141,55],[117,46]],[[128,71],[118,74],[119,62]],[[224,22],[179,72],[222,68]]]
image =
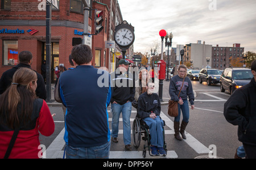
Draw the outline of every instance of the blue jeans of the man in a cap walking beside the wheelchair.
[[[111,132],[112,138],[117,138],[118,136],[119,117],[122,112],[123,142],[125,143],[125,145],[131,144],[131,125],[130,125],[131,102],[127,102],[123,105],[119,105],[117,103],[111,103],[111,111],[113,114],[112,132]]]

